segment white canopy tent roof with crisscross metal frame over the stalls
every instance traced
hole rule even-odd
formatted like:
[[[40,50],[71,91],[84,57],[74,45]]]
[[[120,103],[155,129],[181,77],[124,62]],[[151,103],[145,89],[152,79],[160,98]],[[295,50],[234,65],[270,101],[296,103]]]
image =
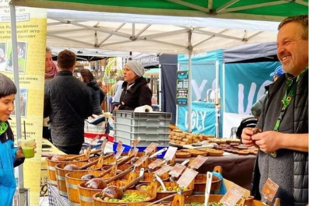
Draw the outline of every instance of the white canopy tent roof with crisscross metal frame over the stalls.
[[[274,42],[278,24],[48,9],[47,45],[175,54],[191,48],[199,53]]]

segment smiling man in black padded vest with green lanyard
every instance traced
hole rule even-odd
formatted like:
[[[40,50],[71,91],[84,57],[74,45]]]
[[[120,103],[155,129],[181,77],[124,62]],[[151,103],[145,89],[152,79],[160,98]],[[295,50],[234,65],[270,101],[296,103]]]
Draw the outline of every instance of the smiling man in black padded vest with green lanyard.
[[[251,128],[245,128],[241,135],[247,147],[259,147],[251,193],[264,200],[261,190],[269,178],[279,185],[275,198],[281,199],[281,206],[306,206],[308,15],[283,20],[279,25],[277,46],[278,58],[287,74],[266,87],[268,95],[257,125],[262,132],[254,134]]]

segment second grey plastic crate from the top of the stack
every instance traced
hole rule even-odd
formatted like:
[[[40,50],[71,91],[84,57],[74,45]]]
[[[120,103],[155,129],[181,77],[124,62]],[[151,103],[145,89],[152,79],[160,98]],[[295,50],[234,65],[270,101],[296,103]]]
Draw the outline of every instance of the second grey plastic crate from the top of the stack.
[[[122,123],[114,123],[114,130],[127,131],[130,133],[167,133],[168,126],[131,126]]]

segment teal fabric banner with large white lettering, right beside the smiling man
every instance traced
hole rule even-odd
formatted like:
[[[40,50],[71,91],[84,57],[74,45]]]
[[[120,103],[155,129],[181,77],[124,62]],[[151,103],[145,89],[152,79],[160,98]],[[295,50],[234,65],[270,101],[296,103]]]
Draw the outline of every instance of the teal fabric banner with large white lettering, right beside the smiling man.
[[[251,114],[252,105],[265,93],[264,87],[273,82],[269,75],[278,66],[279,62],[225,64],[225,102],[221,90],[225,112]],[[223,81],[220,87],[223,88]]]

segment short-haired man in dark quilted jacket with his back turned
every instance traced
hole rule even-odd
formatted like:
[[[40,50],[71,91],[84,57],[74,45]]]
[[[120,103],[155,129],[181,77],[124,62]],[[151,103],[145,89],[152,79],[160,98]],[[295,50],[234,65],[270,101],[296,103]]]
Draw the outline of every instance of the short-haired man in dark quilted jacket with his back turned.
[[[84,142],[84,119],[93,114],[87,86],[73,77],[76,55],[64,50],[57,58],[59,72],[45,85],[44,117],[51,122],[52,143],[67,154],[78,154]]]

